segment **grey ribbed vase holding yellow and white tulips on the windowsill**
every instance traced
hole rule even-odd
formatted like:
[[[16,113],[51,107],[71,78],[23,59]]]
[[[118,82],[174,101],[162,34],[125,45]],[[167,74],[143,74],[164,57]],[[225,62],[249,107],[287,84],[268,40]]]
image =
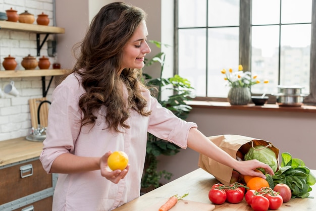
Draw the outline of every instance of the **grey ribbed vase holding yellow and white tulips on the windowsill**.
[[[248,87],[233,87],[228,92],[228,101],[232,105],[246,105],[251,100],[251,93]]]

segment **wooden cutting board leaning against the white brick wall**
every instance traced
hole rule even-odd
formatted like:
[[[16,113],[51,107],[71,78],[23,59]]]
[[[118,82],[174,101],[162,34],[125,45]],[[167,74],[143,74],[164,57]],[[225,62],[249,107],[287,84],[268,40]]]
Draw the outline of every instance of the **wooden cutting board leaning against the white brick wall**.
[[[29,99],[31,123],[32,123],[33,128],[38,128],[37,109],[38,109],[39,103],[43,100],[47,100],[46,97]],[[40,107],[39,122],[42,127],[47,127],[48,108],[49,108],[49,103],[46,103],[46,102],[43,103]]]

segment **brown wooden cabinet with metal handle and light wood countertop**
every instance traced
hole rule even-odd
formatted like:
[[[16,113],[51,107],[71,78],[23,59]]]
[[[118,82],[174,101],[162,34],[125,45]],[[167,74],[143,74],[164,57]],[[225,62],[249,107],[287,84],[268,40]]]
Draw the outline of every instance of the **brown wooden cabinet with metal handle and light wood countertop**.
[[[51,210],[57,174],[39,161],[42,142],[25,137],[0,141],[0,210]]]

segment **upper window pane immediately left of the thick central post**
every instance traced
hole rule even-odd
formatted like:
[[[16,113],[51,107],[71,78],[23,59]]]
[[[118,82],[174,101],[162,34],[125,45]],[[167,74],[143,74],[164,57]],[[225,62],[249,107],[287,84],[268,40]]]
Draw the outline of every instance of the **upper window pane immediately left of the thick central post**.
[[[208,26],[238,26],[239,0],[209,0]]]

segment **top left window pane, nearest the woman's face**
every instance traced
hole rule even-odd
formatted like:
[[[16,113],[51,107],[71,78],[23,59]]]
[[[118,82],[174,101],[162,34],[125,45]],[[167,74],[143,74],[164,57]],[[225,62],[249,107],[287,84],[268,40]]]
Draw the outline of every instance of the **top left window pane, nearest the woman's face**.
[[[179,0],[179,27],[206,27],[206,0]]]

